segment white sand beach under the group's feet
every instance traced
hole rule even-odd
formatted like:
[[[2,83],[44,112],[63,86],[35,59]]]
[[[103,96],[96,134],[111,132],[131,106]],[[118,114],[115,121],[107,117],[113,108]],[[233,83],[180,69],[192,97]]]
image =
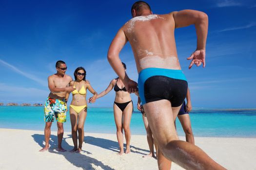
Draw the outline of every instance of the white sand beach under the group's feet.
[[[118,156],[115,134],[85,133],[82,153],[56,151],[57,132],[50,150],[43,131],[0,129],[0,170],[157,170],[157,160],[142,158],[149,149],[146,136],[132,135],[129,154]],[[185,140],[184,137],[180,137]],[[256,170],[256,138],[195,137],[196,145],[228,170]],[[71,133],[65,132],[62,147],[73,149]],[[183,170],[172,164],[172,170]]]

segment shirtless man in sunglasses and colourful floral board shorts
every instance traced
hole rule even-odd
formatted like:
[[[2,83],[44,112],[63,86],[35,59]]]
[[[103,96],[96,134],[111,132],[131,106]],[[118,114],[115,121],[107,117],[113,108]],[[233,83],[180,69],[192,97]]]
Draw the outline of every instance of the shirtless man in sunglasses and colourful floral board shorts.
[[[39,152],[44,152],[49,149],[49,139],[51,136],[51,126],[54,121],[54,117],[57,120],[58,127],[58,151],[65,152],[61,147],[61,141],[63,138],[63,122],[66,122],[66,112],[67,112],[67,98],[68,94],[75,90],[74,87],[69,87],[69,83],[72,78],[66,75],[67,66],[63,61],[57,61],[56,63],[57,73],[48,77],[48,86],[50,89],[50,94],[44,105],[44,137],[45,137],[45,147]]]

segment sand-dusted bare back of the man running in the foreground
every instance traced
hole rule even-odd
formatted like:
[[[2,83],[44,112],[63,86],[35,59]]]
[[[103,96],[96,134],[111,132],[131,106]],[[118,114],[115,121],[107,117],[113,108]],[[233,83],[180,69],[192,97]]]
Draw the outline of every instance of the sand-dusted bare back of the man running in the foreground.
[[[180,69],[172,13],[134,17],[122,30],[132,46],[138,72],[145,68]]]

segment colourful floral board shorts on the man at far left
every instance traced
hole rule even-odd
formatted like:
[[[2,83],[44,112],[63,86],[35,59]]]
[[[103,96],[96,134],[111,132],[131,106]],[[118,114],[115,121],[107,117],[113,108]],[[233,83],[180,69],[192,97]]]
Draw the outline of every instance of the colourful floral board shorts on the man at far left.
[[[44,121],[53,122],[54,117],[60,123],[66,122],[67,104],[64,100],[47,98],[44,105]]]

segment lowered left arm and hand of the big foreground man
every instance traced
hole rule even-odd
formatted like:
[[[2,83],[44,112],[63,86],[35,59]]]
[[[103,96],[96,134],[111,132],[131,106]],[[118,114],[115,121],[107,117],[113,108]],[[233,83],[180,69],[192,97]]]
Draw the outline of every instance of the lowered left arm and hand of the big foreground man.
[[[137,83],[129,79],[119,58],[119,53],[127,41],[128,39],[126,38],[124,31],[121,28],[111,42],[108,49],[108,61],[114,71],[118,74],[118,77],[125,85],[127,91],[129,93],[133,93],[137,91]]]

